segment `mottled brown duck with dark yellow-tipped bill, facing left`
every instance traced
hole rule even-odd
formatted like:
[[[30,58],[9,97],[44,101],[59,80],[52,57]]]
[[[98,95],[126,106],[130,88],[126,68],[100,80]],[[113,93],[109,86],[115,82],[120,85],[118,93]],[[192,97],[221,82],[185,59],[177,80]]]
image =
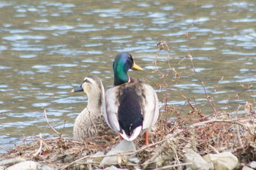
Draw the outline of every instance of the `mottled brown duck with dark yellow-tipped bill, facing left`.
[[[115,134],[108,127],[102,114],[105,90],[99,77],[92,75],[85,77],[82,85],[72,90],[72,92],[79,91],[84,91],[87,94],[88,104],[75,119],[74,138],[82,141],[94,136]]]

